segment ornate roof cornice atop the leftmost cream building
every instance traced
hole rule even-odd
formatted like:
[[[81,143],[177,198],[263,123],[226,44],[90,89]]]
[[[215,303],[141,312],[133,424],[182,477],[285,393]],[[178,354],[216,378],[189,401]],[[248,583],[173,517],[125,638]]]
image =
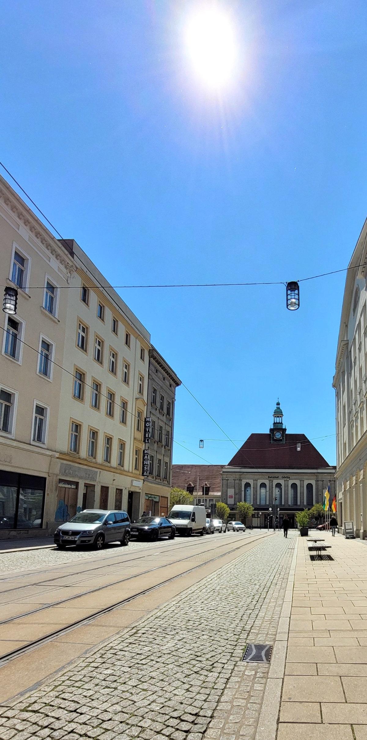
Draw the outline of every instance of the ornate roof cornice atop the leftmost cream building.
[[[37,216],[31,211],[30,208],[21,200],[19,195],[13,190],[13,188],[4,180],[0,175],[0,201],[4,203],[7,210],[13,213],[18,221],[23,223],[24,227],[29,231],[33,238],[41,244],[50,255],[60,263],[64,268],[67,275],[72,275],[75,272],[76,265],[73,259],[68,255],[66,247],[61,247],[60,242],[56,239],[51,232],[44,226]]]

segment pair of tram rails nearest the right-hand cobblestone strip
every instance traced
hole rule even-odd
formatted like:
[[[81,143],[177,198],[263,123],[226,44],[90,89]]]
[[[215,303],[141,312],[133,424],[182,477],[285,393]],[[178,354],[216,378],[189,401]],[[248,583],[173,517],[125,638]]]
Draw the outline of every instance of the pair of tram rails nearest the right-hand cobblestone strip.
[[[93,612],[92,614],[88,616],[84,616],[81,619],[75,619],[73,622],[70,622],[70,624],[65,625],[64,627],[58,628],[57,630],[53,630],[50,633],[47,633],[47,635],[41,636],[38,639],[28,642],[27,645],[18,647],[15,650],[10,650],[9,653],[5,653],[3,656],[1,656],[0,668],[3,667],[4,665],[7,665],[7,663],[9,663],[10,661],[24,655],[25,653],[29,653],[33,650],[36,650],[37,647],[40,647],[41,645],[44,645],[47,642],[52,642],[54,639],[59,638],[63,635],[66,635],[67,633],[74,630],[75,628],[82,627],[84,625],[90,625],[92,622],[95,621],[95,619],[98,619],[99,617],[104,616],[107,613],[110,613],[118,608],[121,608],[122,606],[129,604],[130,602],[134,601],[135,599],[140,598],[141,596],[146,596],[148,593],[152,593],[152,591],[158,590],[158,588],[162,588],[169,583],[175,582],[176,580],[189,575],[189,573],[194,573],[195,571],[198,571],[200,568],[205,568],[207,565],[210,565],[211,563],[216,562],[222,559],[223,557],[236,553],[238,550],[243,549],[243,547],[245,547],[246,544],[255,545],[255,547],[258,547],[261,540],[263,539],[264,539],[263,536],[258,536],[258,537],[254,537],[253,539],[246,540],[245,542],[242,542],[242,544],[237,545],[235,548],[232,548],[229,551],[227,550],[226,552],[220,553],[210,559],[205,560],[205,562],[198,563],[198,565],[193,565],[192,568],[186,568],[186,570],[183,571],[183,573],[177,573],[175,576],[170,576],[169,578],[164,579],[158,584],[148,586],[147,588],[141,589],[141,591],[138,591],[137,593],[133,593],[130,596],[125,597],[124,599],[120,599],[118,600],[118,602],[114,602],[113,604],[108,605],[107,607],[95,610],[95,612]],[[210,550],[207,550],[206,553],[207,552],[210,553],[212,550],[215,550],[215,549],[217,548],[211,548]],[[195,556],[197,556],[197,553],[189,555],[183,558],[183,560],[189,560]],[[176,562],[182,562],[182,560],[175,561],[173,563],[164,563],[163,565],[158,565],[156,568],[151,568],[148,571],[144,571],[142,573],[135,573],[132,576],[128,576],[127,579],[122,579],[120,583],[127,581],[127,580],[134,579],[134,578],[138,578],[140,576],[147,575],[148,573],[152,573],[153,571],[157,571],[162,568],[169,568],[170,566],[175,565]],[[119,582],[116,582],[116,583],[119,583]],[[81,596],[90,595],[90,593],[96,593],[99,591],[103,591],[105,588],[109,588],[113,585],[115,584],[112,583],[112,584],[100,586],[98,588],[92,589],[92,591],[88,591],[86,593],[80,593],[75,596],[71,596],[68,599],[63,599],[61,602],[58,602],[56,604],[54,603],[52,605],[50,604],[44,605],[44,607],[41,607],[40,609],[32,610],[30,612],[21,614],[19,616],[12,617],[10,619],[4,620],[4,622],[0,622],[0,624],[2,625],[8,622],[15,622],[17,619],[21,619],[22,617],[28,616],[33,613],[38,613],[39,611],[43,611],[44,609],[50,608],[50,606],[51,607],[58,606],[59,604],[64,604],[64,603],[73,601],[73,599],[80,598]]]

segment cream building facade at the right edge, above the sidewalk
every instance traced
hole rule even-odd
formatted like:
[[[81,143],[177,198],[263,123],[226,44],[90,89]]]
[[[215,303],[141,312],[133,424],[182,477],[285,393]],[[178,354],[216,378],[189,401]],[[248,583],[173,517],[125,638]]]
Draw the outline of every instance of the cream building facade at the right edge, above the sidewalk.
[[[367,221],[346,276],[333,387],[337,423],[337,519],[367,534]]]

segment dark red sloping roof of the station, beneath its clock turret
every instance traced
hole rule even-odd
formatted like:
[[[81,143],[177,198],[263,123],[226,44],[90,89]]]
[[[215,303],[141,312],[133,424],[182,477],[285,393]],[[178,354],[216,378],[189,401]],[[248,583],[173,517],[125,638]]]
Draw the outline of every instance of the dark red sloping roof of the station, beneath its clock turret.
[[[300,452],[297,452],[300,442]],[[271,443],[270,434],[250,434],[228,463],[230,468],[329,468],[305,434],[286,434],[286,442]]]

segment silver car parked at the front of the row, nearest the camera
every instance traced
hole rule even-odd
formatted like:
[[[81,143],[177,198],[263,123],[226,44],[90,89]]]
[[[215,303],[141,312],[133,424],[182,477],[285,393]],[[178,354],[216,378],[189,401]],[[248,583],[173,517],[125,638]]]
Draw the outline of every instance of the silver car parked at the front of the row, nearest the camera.
[[[126,511],[84,509],[56,529],[53,541],[59,550],[67,545],[93,545],[101,550],[105,542],[129,545],[130,529]]]

